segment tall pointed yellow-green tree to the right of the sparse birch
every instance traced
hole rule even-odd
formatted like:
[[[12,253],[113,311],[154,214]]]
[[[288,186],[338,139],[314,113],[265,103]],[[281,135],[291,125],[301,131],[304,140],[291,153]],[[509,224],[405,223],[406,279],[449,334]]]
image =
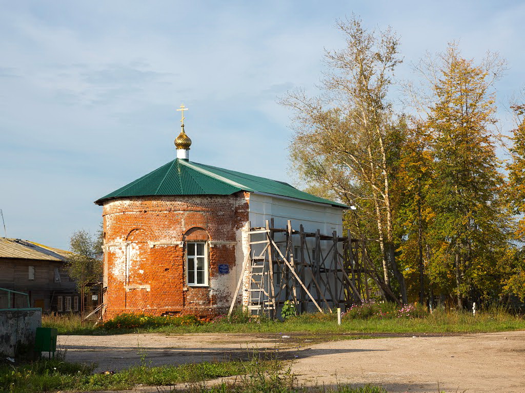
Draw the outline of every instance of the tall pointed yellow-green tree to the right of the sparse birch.
[[[453,288],[463,308],[469,294],[489,297],[500,290],[498,259],[505,256],[510,219],[501,198],[492,83],[504,63],[488,57],[475,65],[454,43],[439,59],[426,122],[435,173],[429,273],[442,290]]]

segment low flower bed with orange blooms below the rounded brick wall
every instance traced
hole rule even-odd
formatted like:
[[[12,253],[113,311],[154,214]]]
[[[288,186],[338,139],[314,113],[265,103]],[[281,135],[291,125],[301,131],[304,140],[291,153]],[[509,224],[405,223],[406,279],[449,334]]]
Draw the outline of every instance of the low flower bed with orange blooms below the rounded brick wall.
[[[160,326],[198,326],[200,324],[201,321],[199,321],[195,315],[153,316],[146,314],[123,313],[102,323],[101,328],[106,330],[117,330],[159,328]]]

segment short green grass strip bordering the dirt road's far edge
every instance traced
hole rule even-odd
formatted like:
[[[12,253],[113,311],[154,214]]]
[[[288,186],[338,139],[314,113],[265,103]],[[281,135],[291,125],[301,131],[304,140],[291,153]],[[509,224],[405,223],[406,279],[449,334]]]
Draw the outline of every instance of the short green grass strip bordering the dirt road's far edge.
[[[388,308],[386,308],[388,309]],[[350,312],[349,312],[350,314]],[[422,318],[383,318],[377,315],[359,315],[344,318],[337,324],[335,313],[307,313],[285,322],[257,318],[236,318],[234,322],[222,319],[200,325],[156,326],[134,329],[104,330],[94,324],[81,325],[78,316],[43,316],[43,326],[57,328],[59,334],[104,335],[119,333],[482,333],[525,330],[525,320],[509,314],[502,308],[469,312],[437,309]]]

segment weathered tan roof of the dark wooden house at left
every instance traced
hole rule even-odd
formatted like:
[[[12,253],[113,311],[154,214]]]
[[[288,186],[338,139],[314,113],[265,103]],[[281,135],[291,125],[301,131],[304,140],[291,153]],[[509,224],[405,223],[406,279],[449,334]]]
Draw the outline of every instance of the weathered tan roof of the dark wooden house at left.
[[[22,239],[0,238],[0,258],[64,261],[68,253]]]

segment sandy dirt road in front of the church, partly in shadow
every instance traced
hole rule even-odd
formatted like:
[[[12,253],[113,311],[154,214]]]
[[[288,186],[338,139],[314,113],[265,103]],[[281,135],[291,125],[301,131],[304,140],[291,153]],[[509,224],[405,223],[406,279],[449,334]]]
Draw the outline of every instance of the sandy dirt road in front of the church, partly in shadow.
[[[180,364],[247,358],[248,350],[293,358],[300,383],[382,385],[389,392],[525,393],[525,331],[459,336],[408,336],[315,343],[290,334],[126,334],[60,336],[76,362],[114,370],[145,361]]]

